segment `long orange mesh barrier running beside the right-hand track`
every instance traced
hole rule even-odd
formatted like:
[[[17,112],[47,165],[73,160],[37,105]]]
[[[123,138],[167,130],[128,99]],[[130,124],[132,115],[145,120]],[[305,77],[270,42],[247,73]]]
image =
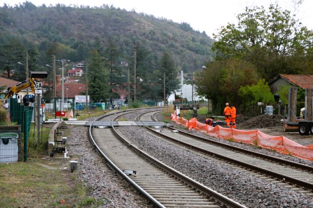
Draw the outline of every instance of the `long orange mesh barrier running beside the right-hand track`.
[[[189,130],[195,129],[197,131],[206,132],[209,136],[214,136],[222,139],[233,139],[237,142],[244,142],[247,144],[254,144],[266,149],[279,151],[284,154],[291,154],[302,159],[313,160],[313,145],[303,146],[285,136],[271,136],[258,130],[238,130],[233,128],[224,128],[221,126],[212,127],[207,124],[202,124],[196,118],[189,121],[182,117],[172,114],[172,120],[177,124],[188,127]]]

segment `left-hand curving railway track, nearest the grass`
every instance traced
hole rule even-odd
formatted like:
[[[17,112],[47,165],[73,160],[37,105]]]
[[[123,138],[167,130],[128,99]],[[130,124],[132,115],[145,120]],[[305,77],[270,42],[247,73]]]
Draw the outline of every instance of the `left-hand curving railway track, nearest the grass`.
[[[90,125],[89,137],[110,167],[155,207],[245,207],[140,151],[113,125],[101,129]]]

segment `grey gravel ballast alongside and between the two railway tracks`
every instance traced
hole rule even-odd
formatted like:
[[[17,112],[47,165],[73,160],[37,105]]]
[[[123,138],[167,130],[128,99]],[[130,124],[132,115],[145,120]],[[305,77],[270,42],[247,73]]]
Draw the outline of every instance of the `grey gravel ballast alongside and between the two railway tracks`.
[[[123,118],[134,120],[134,114],[125,115]],[[109,116],[106,120],[111,120],[115,116]],[[266,180],[225,167],[192,152],[184,151],[154,137],[142,127],[128,126],[118,128],[118,130],[123,132],[124,135],[127,135],[127,138],[132,143],[158,160],[247,207],[313,208],[313,197],[306,196],[280,185],[268,183]],[[125,184],[121,185],[120,183],[123,182],[119,177],[114,176],[112,178],[111,175],[108,176],[108,170],[99,168],[99,164],[104,163],[104,160],[94,151],[92,145],[89,144],[87,131],[88,128],[86,127],[74,127],[71,129],[71,135],[68,139],[68,151],[69,154],[81,155],[78,160],[79,169],[75,174],[79,180],[85,181],[86,186],[91,187],[91,196],[98,200],[104,200],[105,205],[103,207],[151,207],[146,199],[139,196],[131,187]],[[201,132],[184,131],[201,134],[202,137],[216,139],[252,151],[262,151],[269,155],[279,156],[311,166],[313,164],[311,161],[277,152],[209,137]]]

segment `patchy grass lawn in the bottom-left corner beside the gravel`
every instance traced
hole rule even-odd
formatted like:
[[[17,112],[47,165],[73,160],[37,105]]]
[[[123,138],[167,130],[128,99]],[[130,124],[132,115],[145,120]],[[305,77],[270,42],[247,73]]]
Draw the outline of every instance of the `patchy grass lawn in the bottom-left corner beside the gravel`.
[[[70,171],[70,170],[68,170]],[[70,174],[34,162],[0,164],[0,207],[72,207],[86,199]]]

